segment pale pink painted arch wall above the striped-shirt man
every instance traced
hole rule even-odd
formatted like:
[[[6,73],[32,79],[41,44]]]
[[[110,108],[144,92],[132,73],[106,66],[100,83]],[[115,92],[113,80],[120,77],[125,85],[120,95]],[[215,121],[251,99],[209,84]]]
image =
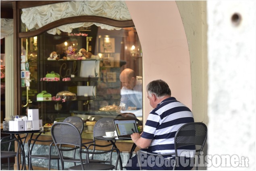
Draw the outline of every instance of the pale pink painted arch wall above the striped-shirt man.
[[[144,119],[152,110],[146,85],[169,84],[172,96],[192,109],[190,58],[185,30],[175,1],[125,1],[143,52]]]

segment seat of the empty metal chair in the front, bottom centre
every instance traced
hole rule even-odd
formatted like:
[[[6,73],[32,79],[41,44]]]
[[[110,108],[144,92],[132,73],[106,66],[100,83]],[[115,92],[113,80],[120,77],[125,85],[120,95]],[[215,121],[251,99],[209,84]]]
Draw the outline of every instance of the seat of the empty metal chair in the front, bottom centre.
[[[85,170],[111,170],[114,169],[114,165],[104,163],[85,163],[83,164]],[[69,167],[69,170],[82,170],[82,165]]]

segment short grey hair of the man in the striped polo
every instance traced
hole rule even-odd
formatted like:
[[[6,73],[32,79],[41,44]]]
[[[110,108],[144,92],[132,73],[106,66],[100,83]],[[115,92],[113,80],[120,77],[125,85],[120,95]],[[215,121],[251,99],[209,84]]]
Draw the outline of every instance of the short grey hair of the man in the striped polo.
[[[156,95],[157,97],[162,97],[166,95],[171,96],[171,90],[166,82],[163,80],[154,80],[148,83],[147,91]]]

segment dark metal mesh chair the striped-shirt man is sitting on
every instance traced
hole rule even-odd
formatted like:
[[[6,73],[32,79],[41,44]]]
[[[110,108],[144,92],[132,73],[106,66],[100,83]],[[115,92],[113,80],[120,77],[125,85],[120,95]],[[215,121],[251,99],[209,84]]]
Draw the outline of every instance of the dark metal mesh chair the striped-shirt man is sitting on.
[[[202,152],[204,148],[204,144],[207,139],[207,126],[202,123],[202,122],[192,122],[192,123],[187,123],[181,126],[174,138],[174,146],[175,146],[175,152],[174,153],[167,153],[167,154],[156,154],[156,153],[150,153],[144,150],[139,150],[137,152],[137,159],[138,159],[138,164],[140,167],[140,170],[142,170],[142,154],[146,155],[154,155],[154,156],[170,156],[170,155],[175,155],[175,162],[174,162],[174,167],[173,170],[175,170],[176,163],[177,163],[177,157],[178,152],[177,150],[181,147],[186,147],[186,146],[191,146],[194,145],[196,149],[196,152],[199,152],[199,157],[196,159],[196,170],[198,170],[198,163],[200,161],[200,153]],[[193,161],[194,162],[194,161]]]

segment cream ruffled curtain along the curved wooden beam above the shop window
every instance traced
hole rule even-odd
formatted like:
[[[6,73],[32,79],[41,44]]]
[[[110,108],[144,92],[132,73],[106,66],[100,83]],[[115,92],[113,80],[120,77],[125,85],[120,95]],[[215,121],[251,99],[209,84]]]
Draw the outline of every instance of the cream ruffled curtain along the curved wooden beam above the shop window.
[[[125,4],[125,1],[108,1],[108,0],[83,0],[61,2],[44,6],[23,8],[21,21],[25,23],[27,29],[38,29],[53,21],[71,17],[71,16],[104,16],[119,21],[131,20],[131,15]],[[55,35],[58,29],[63,32],[71,33],[72,29],[79,27],[89,27],[95,24],[102,29],[121,29],[100,23],[71,23],[62,25],[49,30],[48,33]]]

